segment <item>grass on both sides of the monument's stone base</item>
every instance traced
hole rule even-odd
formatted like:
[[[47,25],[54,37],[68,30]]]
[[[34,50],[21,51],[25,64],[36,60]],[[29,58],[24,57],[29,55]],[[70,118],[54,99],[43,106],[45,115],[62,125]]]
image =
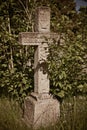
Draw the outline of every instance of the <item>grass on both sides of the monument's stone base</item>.
[[[38,130],[87,130],[87,97],[65,99],[61,104],[58,123]],[[22,110],[17,102],[0,99],[0,130],[31,130],[22,120]]]

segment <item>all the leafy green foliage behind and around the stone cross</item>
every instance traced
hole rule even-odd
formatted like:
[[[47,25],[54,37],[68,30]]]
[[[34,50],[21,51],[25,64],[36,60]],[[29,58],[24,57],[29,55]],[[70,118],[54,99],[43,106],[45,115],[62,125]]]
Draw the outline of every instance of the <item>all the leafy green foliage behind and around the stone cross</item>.
[[[86,97],[87,7],[81,7],[77,12],[73,0],[0,1],[0,97],[23,104],[24,98],[33,91],[34,47],[21,46],[18,34],[34,32],[35,9],[38,6],[51,8],[51,31],[60,36],[51,45],[47,41],[50,92],[62,103],[66,97]],[[86,117],[84,119],[87,120]]]

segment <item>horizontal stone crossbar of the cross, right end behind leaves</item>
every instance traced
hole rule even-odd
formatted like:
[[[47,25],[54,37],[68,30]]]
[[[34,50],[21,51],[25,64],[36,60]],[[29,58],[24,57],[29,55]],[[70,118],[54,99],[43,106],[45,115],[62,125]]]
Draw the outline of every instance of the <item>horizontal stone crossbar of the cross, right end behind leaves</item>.
[[[56,33],[39,33],[39,32],[22,32],[19,34],[19,43],[22,45],[40,45],[43,42],[47,42],[49,39],[50,43],[55,39],[59,39]]]

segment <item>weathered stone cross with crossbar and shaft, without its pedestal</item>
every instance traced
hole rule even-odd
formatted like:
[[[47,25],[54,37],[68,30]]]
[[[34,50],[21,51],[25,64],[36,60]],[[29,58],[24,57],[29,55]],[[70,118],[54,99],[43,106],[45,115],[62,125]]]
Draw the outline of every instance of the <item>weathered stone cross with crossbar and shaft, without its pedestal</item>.
[[[36,46],[34,54],[34,96],[49,97],[49,77],[46,60],[48,55],[47,39],[58,39],[56,33],[50,33],[50,8],[39,7],[36,11],[35,32],[22,32],[19,42],[22,45]],[[36,94],[36,95],[35,95]],[[44,96],[43,96],[44,95]]]

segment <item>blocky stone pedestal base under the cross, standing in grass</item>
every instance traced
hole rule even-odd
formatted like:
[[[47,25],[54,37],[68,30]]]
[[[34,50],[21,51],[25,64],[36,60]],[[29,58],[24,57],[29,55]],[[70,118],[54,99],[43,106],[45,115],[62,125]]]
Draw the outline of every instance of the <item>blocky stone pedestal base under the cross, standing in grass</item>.
[[[36,96],[37,97],[37,96]],[[56,123],[60,116],[60,104],[56,99],[38,99],[29,96],[24,103],[24,120],[30,127],[38,128]]]

